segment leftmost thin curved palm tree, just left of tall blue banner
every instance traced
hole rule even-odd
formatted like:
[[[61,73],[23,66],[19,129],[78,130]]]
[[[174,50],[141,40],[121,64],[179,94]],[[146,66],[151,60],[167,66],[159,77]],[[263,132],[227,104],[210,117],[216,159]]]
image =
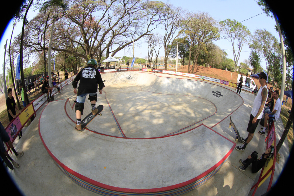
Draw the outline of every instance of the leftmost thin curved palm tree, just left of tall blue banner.
[[[14,86],[14,94],[15,94],[15,97],[16,97],[16,102],[17,102],[17,105],[18,107],[21,109],[21,106],[19,104],[19,98],[17,96],[17,92],[16,92],[16,87],[15,87],[15,83],[14,83],[14,79],[13,79],[13,71],[14,71],[14,66],[12,68],[12,61],[11,61],[11,40],[12,40],[12,34],[13,34],[13,30],[14,30],[14,26],[16,24],[16,20],[20,19],[21,16],[24,15],[24,12],[25,10],[28,8],[28,5],[25,4],[25,1],[22,2],[21,6],[19,7],[19,9],[17,9],[16,13],[13,15],[13,19],[14,19],[14,23],[13,23],[13,28],[12,28],[12,32],[11,32],[11,37],[10,37],[10,42],[9,42],[9,60],[10,60],[10,72],[11,72],[11,79],[12,79],[12,83],[13,83],[13,86]],[[28,21],[26,20],[26,23],[28,23]]]

